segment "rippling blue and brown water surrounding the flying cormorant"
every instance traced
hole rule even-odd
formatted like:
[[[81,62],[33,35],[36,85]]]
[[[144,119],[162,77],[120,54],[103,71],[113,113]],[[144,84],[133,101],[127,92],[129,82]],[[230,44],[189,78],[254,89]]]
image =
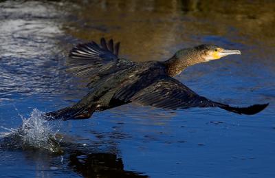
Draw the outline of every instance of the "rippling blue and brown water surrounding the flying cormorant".
[[[1,1],[2,177],[274,177],[273,1]],[[101,36],[123,57],[165,60],[201,43],[241,56],[189,67],[177,79],[257,115],[221,109],[163,111],[128,104],[89,120],[41,113],[87,93],[65,72],[69,49]]]

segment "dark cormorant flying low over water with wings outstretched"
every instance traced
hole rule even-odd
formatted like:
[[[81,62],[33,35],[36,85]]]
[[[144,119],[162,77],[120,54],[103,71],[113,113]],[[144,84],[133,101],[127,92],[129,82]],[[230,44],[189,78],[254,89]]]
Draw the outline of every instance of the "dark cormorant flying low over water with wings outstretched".
[[[105,38],[100,44],[94,41],[80,43],[72,48],[67,58],[67,71],[88,80],[89,93],[76,104],[45,113],[47,120],[81,120],[94,112],[104,111],[130,102],[166,110],[192,107],[219,107],[227,111],[253,115],[267,107],[254,104],[250,107],[231,107],[199,96],[176,80],[187,67],[206,63],[239,50],[224,49],[217,45],[198,45],[177,51],[165,61],[134,62],[120,58],[120,42]]]

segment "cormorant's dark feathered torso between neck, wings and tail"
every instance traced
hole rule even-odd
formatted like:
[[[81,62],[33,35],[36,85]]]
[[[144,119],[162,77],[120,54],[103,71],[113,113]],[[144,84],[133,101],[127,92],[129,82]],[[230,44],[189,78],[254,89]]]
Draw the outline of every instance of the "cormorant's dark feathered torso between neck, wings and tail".
[[[78,104],[91,105],[96,111],[118,107],[131,102],[137,91],[166,75],[164,64],[157,61],[133,63],[118,59],[118,63],[124,63],[123,68],[89,84],[91,91]]]

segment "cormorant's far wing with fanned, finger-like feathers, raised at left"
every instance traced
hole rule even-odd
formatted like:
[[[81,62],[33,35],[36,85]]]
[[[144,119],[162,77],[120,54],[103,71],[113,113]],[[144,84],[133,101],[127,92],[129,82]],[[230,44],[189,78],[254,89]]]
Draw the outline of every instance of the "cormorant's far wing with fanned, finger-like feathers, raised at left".
[[[67,71],[81,78],[109,74],[118,66],[119,49],[120,42],[114,45],[113,39],[107,43],[104,38],[101,38],[100,45],[94,41],[76,45],[69,53]]]

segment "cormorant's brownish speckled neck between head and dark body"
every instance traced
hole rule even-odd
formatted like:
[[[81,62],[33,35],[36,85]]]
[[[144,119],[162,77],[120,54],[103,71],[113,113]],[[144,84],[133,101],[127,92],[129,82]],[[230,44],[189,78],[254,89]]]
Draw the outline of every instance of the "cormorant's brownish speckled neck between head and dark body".
[[[181,49],[172,58],[164,61],[168,76],[174,77],[188,66],[201,63],[201,55],[195,49]]]

